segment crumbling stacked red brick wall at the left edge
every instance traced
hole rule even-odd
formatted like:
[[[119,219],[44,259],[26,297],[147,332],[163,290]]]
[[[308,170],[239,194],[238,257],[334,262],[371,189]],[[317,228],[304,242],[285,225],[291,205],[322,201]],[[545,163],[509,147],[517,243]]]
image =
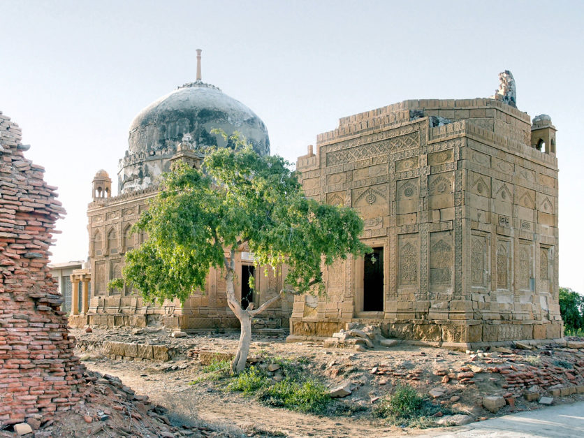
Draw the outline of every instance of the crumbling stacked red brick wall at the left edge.
[[[47,268],[64,214],[43,168],[24,158],[21,130],[0,112],[0,423],[48,418],[80,400],[61,297]]]

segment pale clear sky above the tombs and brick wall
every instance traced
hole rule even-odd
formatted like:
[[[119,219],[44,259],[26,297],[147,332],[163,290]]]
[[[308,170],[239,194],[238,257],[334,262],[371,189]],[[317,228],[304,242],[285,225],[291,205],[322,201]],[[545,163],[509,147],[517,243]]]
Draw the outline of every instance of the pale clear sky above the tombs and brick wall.
[[[340,117],[490,96],[508,69],[518,108],[558,129],[560,286],[584,292],[583,23],[579,1],[0,0],[0,111],[59,187],[57,263],[87,258],[92,177],[117,193],[131,120],[195,79],[196,48],[293,162]]]

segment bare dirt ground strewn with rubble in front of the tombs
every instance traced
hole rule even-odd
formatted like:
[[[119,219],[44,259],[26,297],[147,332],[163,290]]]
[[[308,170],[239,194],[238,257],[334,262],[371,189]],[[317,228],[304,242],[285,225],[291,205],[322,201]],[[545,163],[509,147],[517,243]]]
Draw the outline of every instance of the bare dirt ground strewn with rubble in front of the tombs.
[[[284,336],[255,335],[250,356],[304,358],[303,365],[299,366],[328,386],[351,382],[356,387],[351,395],[333,404],[330,414],[315,416],[266,407],[250,397],[228,393],[213,381],[191,384],[200,375],[203,365],[189,358],[189,351],[233,352],[238,342],[235,333],[174,338],[164,330],[152,328],[94,330],[90,334],[73,330],[72,334],[78,339],[76,353],[89,370],[117,376],[137,394],[148,395],[154,404],[168,409],[168,416],[174,423],[204,421],[214,430],[223,430],[225,436],[416,435],[418,430],[388,425],[371,415],[372,407],[398,384],[413,386],[422,395],[428,395],[432,389],[443,392],[435,397],[435,404],[468,414],[474,421],[495,416],[483,409],[484,396],[506,398],[506,406],[496,414],[499,416],[541,408],[537,400],[530,402],[524,397],[534,386],[545,395],[555,388],[584,385],[584,350],[558,345],[535,350],[465,353],[402,343],[357,352],[325,349],[318,342],[286,343]],[[173,358],[168,362],[112,360],[103,356],[101,342],[104,340],[164,342],[173,352]],[[574,389],[574,394],[554,397],[553,404],[584,400],[584,394],[577,392]]]

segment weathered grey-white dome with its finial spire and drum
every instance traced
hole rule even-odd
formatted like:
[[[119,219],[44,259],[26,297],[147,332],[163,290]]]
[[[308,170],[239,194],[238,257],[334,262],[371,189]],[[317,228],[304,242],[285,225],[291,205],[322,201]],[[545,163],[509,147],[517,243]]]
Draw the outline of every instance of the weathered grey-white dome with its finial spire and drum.
[[[261,155],[270,154],[268,130],[247,106],[200,80],[200,50],[197,50],[197,80],[178,87],[148,105],[133,119],[129,147],[119,160],[118,188],[121,194],[157,184],[170,170],[170,159],[185,138],[189,149],[225,147],[226,140],[212,133],[238,131]],[[192,145],[192,147],[190,147]]]

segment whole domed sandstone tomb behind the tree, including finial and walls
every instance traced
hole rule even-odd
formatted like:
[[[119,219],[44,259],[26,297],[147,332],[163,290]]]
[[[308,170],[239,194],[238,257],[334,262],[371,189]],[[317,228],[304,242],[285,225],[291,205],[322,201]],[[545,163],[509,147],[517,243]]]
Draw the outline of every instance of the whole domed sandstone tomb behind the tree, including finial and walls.
[[[131,234],[130,230],[158,193],[161,173],[168,172],[177,160],[198,165],[204,146],[227,146],[212,129],[228,134],[239,131],[258,154],[270,153],[268,131],[261,119],[219,88],[202,82],[199,52],[197,80],[159,98],[131,123],[129,148],[119,160],[119,194],[112,196],[112,180],[105,170],[99,170],[94,177],[93,200],[87,209],[89,269],[73,272],[73,286],[82,284],[82,290],[73,290],[73,296],[80,297],[81,311],[72,306],[71,325],[143,327],[162,323],[167,328],[187,330],[239,328],[238,319],[227,305],[224,274],[219,270],[211,271],[204,293],[194,293],[183,306],[179,300],[163,305],[145,303],[140,293],[128,286],[108,290],[108,282],[122,276],[126,251],[147,238],[144,234]],[[244,304],[254,302],[258,307],[282,289],[282,274],[274,275],[271,268],[254,267],[253,256],[245,248],[236,258],[239,275],[235,293]],[[256,281],[255,292],[249,290],[250,275]],[[264,323],[266,328],[288,326],[291,307],[291,300],[279,302],[262,314],[263,320],[258,324]]]

